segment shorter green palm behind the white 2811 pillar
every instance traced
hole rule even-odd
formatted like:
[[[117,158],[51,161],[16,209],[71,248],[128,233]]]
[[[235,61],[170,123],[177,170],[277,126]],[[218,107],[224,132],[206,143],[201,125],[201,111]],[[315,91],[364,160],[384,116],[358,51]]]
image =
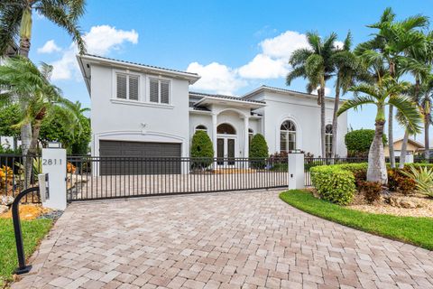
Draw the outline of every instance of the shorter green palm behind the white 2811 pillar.
[[[76,105],[63,98],[60,89],[51,85],[51,70],[52,67],[45,63],[42,63],[39,70],[32,61],[21,56],[9,58],[5,65],[0,66],[0,86],[4,88],[0,93],[0,104],[19,103],[21,121],[16,126],[32,124],[28,154],[24,154],[26,157],[37,154],[41,122],[53,109],[60,108],[64,114],[68,114],[67,123],[70,126],[76,123],[78,117],[74,110]],[[24,166],[25,164],[32,165],[31,162],[24,163]],[[26,185],[30,182],[31,173],[31,169],[26,167]]]

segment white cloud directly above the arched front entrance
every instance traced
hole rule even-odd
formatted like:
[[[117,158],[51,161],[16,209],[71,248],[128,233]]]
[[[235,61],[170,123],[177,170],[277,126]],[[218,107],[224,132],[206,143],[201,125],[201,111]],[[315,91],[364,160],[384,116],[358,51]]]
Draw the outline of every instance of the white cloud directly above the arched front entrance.
[[[189,64],[187,71],[198,73],[201,76],[201,79],[198,79],[192,86],[193,89],[233,95],[235,90],[246,85],[246,81],[239,79],[235,70],[217,62],[207,65],[192,62]]]

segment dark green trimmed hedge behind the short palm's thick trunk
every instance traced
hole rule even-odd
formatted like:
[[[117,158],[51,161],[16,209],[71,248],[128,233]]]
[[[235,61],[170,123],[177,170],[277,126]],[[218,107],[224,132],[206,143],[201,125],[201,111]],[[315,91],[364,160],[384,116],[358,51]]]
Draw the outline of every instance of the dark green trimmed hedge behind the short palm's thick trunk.
[[[345,134],[345,146],[348,154],[364,156],[368,154],[374,138],[373,129],[357,129]],[[383,144],[387,143],[386,135],[383,135]]]

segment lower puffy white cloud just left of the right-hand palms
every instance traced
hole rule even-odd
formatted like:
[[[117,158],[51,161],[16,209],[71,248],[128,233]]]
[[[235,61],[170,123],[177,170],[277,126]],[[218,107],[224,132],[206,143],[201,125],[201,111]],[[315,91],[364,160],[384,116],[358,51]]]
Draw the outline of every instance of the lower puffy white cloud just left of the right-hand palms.
[[[239,68],[238,72],[245,79],[278,79],[286,76],[289,65],[283,59],[257,54],[253,61]]]

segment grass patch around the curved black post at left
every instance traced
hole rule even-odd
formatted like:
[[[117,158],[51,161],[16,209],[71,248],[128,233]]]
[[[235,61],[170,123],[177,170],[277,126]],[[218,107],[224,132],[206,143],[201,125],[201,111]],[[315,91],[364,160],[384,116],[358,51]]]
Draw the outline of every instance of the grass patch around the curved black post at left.
[[[23,243],[25,256],[29,257],[51,228],[51,219],[23,220]],[[12,281],[18,266],[12,219],[0,219],[0,288]]]

